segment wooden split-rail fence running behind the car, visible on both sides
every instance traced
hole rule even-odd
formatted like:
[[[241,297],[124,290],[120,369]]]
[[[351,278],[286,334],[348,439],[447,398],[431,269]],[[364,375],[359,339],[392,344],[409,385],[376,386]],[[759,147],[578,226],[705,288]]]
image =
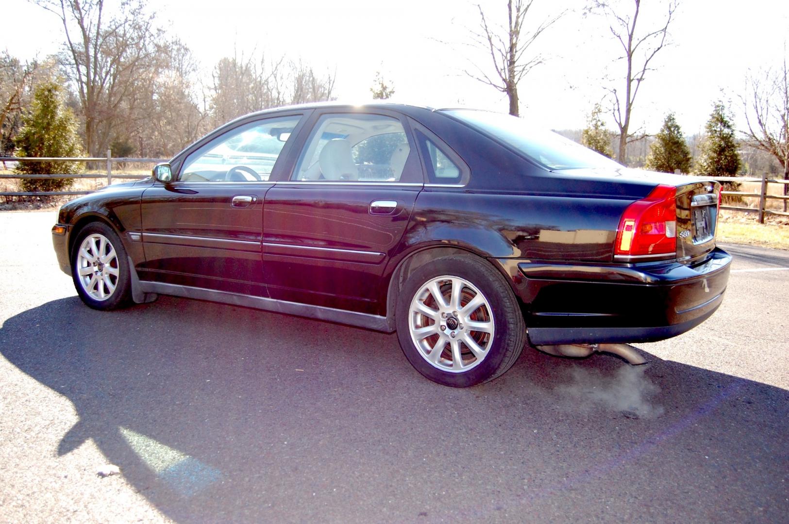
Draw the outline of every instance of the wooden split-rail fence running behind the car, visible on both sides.
[[[107,151],[106,157],[86,157],[86,158],[17,158],[17,157],[0,157],[0,162],[19,162],[21,160],[30,162],[53,162],[53,161],[70,161],[70,162],[107,162],[106,174],[84,174],[84,175],[3,175],[0,174],[0,179],[3,178],[104,178],[107,177],[107,185],[112,184],[113,177],[118,179],[143,179],[148,175],[129,175],[129,174],[113,174],[113,162],[140,162],[140,163],[159,163],[167,162],[169,158],[112,158],[110,151]],[[705,177],[711,178],[718,182],[761,182],[761,191],[758,193],[748,191],[723,191],[724,195],[739,195],[741,197],[757,198],[757,207],[746,206],[720,206],[722,210],[741,211],[742,213],[758,213],[759,222],[764,223],[765,214],[783,215],[789,217],[787,211],[776,211],[767,209],[768,199],[780,199],[784,202],[789,200],[787,195],[769,195],[768,184],[789,184],[789,180],[779,180],[767,178],[765,173],[761,178],[756,177]],[[0,192],[0,196],[44,196],[44,195],[87,195],[92,191],[17,191],[17,192]],[[781,191],[783,193],[784,191]]]

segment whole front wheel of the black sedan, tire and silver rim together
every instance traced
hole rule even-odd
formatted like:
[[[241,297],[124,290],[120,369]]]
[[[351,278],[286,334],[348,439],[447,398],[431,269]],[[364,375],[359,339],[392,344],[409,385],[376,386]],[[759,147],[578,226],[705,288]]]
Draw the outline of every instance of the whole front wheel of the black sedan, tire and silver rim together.
[[[101,238],[106,240],[106,243],[102,243]],[[86,239],[95,242],[91,243],[88,240],[87,245],[84,246]],[[94,255],[95,263],[85,256],[80,257],[80,250],[83,247],[87,247],[88,255]],[[96,250],[96,247],[99,250]],[[104,247],[102,252],[93,252],[101,251],[101,247]],[[112,251],[114,257],[111,256]],[[110,258],[103,255],[110,255]],[[102,259],[106,263],[102,262]],[[92,270],[92,273],[80,276],[80,269]],[[92,280],[94,275],[96,278]],[[77,295],[80,295],[80,299],[87,306],[95,310],[114,310],[131,303],[129,257],[118,234],[103,222],[92,222],[77,235],[71,251],[71,277],[74,287],[77,288]],[[114,288],[111,287],[112,285]]]

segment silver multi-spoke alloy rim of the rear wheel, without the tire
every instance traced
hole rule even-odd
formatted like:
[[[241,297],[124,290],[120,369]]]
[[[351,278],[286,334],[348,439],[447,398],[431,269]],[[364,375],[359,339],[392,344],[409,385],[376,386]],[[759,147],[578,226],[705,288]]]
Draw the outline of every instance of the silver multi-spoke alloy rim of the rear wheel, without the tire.
[[[419,288],[409,307],[408,327],[421,357],[449,373],[478,366],[495,335],[488,299],[469,281],[450,275]]]

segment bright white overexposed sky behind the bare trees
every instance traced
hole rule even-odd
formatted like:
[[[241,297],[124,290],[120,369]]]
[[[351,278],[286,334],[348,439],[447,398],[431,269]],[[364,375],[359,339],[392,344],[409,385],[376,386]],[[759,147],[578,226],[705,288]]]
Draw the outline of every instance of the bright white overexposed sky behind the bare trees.
[[[662,0],[657,6],[664,6]],[[504,0],[482,0],[491,20],[506,22]],[[658,23],[656,0],[644,2],[641,28]],[[456,0],[159,0],[150,2],[159,24],[183,40],[210,78],[219,58],[234,47],[249,54],[301,58],[317,70],[335,72],[335,94],[342,100],[370,98],[369,87],[381,70],[402,102],[434,107],[471,106],[507,111],[507,98],[463,74],[480,65],[490,71],[484,52],[469,46],[469,28],[479,15],[472,2]],[[613,86],[605,76],[624,75],[608,27],[600,17],[582,17],[582,0],[537,0],[539,9],[577,9],[537,40],[550,59],[533,69],[519,86],[522,116],[550,128],[582,128],[594,102]],[[533,25],[548,11],[535,13]],[[43,58],[62,42],[59,20],[42,8],[12,0],[0,49],[18,58]],[[661,12],[662,14],[662,7]],[[9,24],[8,20],[36,20]],[[528,23],[527,23],[528,24]],[[672,110],[686,134],[704,125],[712,102],[731,102],[741,125],[737,95],[746,71],[776,66],[789,37],[789,2],[785,0],[684,0],[672,22],[672,45],[661,50],[639,91],[633,130],[656,132]],[[620,91],[622,87],[619,87]],[[615,124],[609,117],[609,128]]]

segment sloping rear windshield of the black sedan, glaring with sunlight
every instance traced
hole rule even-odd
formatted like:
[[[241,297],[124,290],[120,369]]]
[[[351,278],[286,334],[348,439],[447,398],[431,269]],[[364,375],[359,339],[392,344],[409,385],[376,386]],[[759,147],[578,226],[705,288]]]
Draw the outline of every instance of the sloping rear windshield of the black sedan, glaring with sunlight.
[[[514,147],[548,169],[622,167],[611,158],[604,157],[548,129],[533,127],[522,118],[478,110],[444,112]]]

